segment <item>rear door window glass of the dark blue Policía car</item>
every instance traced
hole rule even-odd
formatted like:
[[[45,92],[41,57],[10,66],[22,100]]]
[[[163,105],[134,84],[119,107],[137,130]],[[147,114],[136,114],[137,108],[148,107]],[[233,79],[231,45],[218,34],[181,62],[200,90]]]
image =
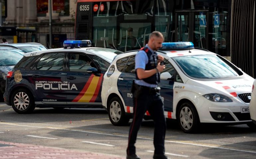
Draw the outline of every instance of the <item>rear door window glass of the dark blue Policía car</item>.
[[[37,63],[37,70],[63,70],[65,53],[44,54]]]

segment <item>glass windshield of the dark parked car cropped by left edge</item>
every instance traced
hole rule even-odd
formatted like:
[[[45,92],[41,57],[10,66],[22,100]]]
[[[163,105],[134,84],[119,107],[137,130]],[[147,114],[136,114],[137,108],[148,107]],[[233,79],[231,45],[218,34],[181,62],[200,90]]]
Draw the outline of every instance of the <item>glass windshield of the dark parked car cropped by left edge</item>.
[[[23,57],[18,49],[0,49],[0,66],[16,65]]]

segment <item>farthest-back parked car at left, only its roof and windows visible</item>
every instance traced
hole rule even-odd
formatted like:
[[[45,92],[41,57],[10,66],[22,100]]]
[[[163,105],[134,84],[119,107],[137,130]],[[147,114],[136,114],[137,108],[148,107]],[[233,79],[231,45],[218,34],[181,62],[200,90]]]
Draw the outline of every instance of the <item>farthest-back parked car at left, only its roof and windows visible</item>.
[[[12,47],[22,50],[24,53],[47,50],[47,47],[37,42],[0,44],[0,46]]]

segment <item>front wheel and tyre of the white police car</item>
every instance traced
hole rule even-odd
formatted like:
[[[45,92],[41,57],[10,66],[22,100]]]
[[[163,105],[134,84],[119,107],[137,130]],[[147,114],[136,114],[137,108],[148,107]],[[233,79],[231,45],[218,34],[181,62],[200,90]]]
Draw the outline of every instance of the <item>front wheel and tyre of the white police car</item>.
[[[200,121],[197,111],[192,103],[185,102],[181,105],[177,119],[181,129],[185,133],[195,133],[198,131]]]

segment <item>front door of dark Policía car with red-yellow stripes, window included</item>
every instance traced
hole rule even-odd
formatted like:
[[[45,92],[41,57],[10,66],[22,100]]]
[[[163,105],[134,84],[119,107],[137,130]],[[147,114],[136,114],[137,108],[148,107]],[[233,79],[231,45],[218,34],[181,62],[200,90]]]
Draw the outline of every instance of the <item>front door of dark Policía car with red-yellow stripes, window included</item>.
[[[68,68],[67,104],[101,107],[99,92],[103,75],[92,59],[84,53],[69,53]]]

